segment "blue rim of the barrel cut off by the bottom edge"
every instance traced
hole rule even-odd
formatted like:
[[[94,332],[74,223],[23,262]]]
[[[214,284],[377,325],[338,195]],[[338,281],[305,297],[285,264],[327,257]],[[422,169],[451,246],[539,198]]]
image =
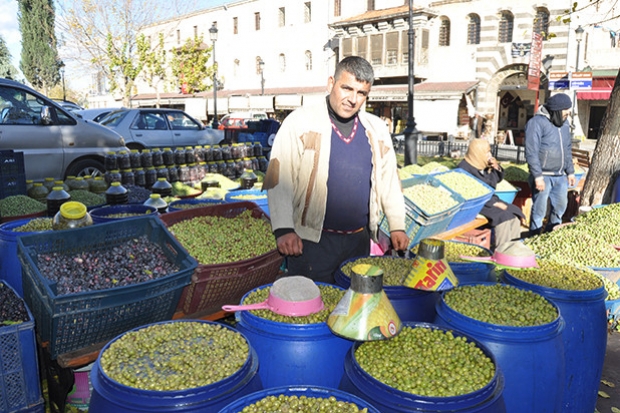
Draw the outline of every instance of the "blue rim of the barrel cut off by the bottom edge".
[[[244,407],[256,403],[265,397],[274,396],[297,396],[299,397],[313,397],[327,399],[329,397],[335,397],[336,400],[348,403],[354,403],[359,410],[368,409],[368,413],[380,413],[372,404],[368,401],[361,399],[352,394],[346,393],[342,390],[333,388],[320,387],[320,386],[283,386],[275,387],[267,390],[261,390],[256,393],[249,394],[241,399],[237,400],[224,407],[219,413],[239,413]]]

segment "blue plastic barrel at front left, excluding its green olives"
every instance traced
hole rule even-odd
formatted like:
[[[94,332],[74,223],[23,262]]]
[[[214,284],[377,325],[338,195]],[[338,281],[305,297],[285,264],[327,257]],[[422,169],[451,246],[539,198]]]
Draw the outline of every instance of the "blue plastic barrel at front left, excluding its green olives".
[[[187,321],[164,321],[155,324]],[[191,320],[191,322],[219,324],[232,329],[226,324],[211,321]],[[144,327],[146,326],[134,330]],[[237,372],[207,386],[177,391],[142,390],[125,386],[108,377],[101,368],[101,355],[113,341],[123,334],[106,344],[93,364],[90,373],[93,386],[88,409],[90,413],[217,412],[231,402],[263,389],[257,374],[258,358],[251,345],[248,359]],[[217,366],[212,367],[217,368]]]

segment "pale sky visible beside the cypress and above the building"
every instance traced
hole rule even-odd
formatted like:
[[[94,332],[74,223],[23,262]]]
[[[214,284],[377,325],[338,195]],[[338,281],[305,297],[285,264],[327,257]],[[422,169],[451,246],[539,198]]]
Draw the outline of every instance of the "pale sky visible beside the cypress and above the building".
[[[59,1],[59,0],[56,0]],[[164,2],[166,0],[154,0]],[[194,0],[197,9],[208,9],[216,7],[224,3],[231,3],[230,0]],[[0,0],[0,36],[4,38],[9,52],[11,53],[11,62],[17,70],[19,70],[19,60],[21,56],[21,33],[19,31],[19,23],[17,21],[18,3],[16,0]],[[62,59],[62,55],[60,56]],[[90,73],[81,67],[72,67],[71,63],[67,63],[66,67],[67,86],[80,89],[87,87],[90,82]],[[21,76],[21,71],[20,71]]]

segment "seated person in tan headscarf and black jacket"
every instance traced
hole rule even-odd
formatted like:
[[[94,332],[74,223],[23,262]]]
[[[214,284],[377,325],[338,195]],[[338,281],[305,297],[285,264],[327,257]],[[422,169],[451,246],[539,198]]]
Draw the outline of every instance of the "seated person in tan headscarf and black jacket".
[[[504,170],[491,154],[491,146],[485,139],[473,139],[469,143],[465,159],[458,167],[493,189],[504,178]],[[507,204],[493,194],[480,214],[489,221],[487,226],[493,229],[494,248],[521,238],[521,220],[525,219],[525,215],[517,206]]]

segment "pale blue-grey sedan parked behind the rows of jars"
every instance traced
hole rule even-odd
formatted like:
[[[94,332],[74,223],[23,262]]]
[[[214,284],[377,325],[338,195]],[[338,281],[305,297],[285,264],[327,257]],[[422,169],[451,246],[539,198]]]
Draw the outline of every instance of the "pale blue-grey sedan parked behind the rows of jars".
[[[100,122],[118,132],[129,149],[215,145],[224,140],[223,131],[206,128],[178,109],[120,109]]]

